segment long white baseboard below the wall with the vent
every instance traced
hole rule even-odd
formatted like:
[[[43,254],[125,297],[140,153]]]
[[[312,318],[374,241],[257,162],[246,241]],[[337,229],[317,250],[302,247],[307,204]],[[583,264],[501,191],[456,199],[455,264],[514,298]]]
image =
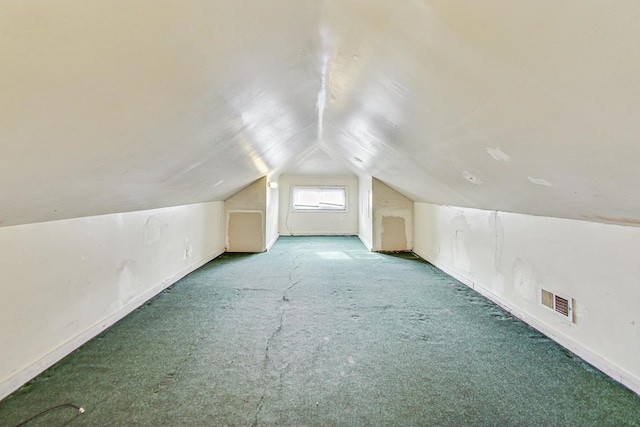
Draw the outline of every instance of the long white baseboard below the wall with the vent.
[[[444,271],[445,273],[452,276],[456,280],[460,281],[461,283],[475,290],[485,298],[496,303],[497,305],[499,305],[509,313],[516,316],[518,319],[527,323],[531,327],[537,329],[547,337],[551,338],[556,343],[560,344],[562,347],[568,349],[572,353],[575,353],[580,358],[585,360],[587,363],[595,366],[596,368],[598,368],[599,370],[601,370],[602,372],[604,372],[614,380],[618,381],[620,384],[624,385],[625,387],[629,388],[636,394],[640,395],[640,378],[635,377],[633,374],[631,374],[627,370],[603,358],[601,355],[583,346],[579,342],[575,341],[573,338],[558,332],[557,330],[553,329],[552,327],[542,322],[538,318],[532,316],[531,314],[528,314],[518,309],[517,307],[510,304],[508,301],[505,301],[504,299],[500,298],[499,296],[489,291],[487,288],[485,288],[481,284],[474,282],[468,277],[460,274],[459,272],[454,270],[452,267],[436,261],[436,257],[431,256],[415,248],[413,252],[416,255],[418,255],[420,258],[428,261],[429,263],[433,264],[435,267]]]

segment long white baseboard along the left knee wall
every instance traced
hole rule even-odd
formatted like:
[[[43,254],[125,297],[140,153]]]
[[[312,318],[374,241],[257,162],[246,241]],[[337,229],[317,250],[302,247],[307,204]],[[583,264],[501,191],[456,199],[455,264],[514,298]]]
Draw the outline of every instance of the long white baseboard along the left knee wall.
[[[49,354],[47,354],[37,362],[11,375],[9,378],[7,378],[6,380],[0,383],[0,400],[4,399],[14,391],[18,390],[20,387],[22,387],[22,385],[32,380],[33,378],[35,378],[36,376],[44,372],[46,369],[53,366],[55,363],[62,360],[65,356],[71,354],[74,350],[76,350],[77,348],[85,344],[87,341],[99,335],[101,332],[103,332],[105,329],[109,328],[110,326],[114,325],[116,322],[124,318],[133,310],[140,307],[145,302],[147,302],[148,300],[150,300],[151,298],[153,298],[154,296],[156,296],[157,294],[159,294],[169,286],[173,285],[174,283],[182,279],[187,274],[191,273],[194,270],[197,270],[198,268],[202,267],[212,259],[220,256],[223,252],[224,250],[215,252],[201,259],[197,263],[192,264],[180,270],[173,276],[169,277],[166,280],[163,280],[161,283],[149,289],[147,292],[133,299],[131,302],[129,302],[127,305],[122,307],[117,312],[111,314],[110,316],[106,317],[102,321],[91,326],[81,334],[77,335],[76,337],[62,344],[60,347],[53,350],[52,352],[50,352]]]

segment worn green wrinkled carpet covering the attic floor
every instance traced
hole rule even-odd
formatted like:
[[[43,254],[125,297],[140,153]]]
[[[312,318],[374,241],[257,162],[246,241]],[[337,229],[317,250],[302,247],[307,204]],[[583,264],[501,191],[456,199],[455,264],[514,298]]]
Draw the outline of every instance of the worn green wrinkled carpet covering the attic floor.
[[[412,254],[224,254],[0,403],[15,425],[640,426],[640,397]]]

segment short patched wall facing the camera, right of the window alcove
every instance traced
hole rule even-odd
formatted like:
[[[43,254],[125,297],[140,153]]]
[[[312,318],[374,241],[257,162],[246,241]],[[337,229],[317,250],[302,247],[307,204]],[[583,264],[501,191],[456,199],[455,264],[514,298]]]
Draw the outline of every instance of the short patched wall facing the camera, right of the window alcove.
[[[413,201],[373,178],[373,250],[413,249]]]

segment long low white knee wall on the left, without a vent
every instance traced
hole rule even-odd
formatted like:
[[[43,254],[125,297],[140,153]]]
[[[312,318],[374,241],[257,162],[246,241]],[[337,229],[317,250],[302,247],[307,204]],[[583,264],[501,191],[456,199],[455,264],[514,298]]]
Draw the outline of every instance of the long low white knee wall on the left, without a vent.
[[[223,202],[0,228],[0,399],[223,246]]]

